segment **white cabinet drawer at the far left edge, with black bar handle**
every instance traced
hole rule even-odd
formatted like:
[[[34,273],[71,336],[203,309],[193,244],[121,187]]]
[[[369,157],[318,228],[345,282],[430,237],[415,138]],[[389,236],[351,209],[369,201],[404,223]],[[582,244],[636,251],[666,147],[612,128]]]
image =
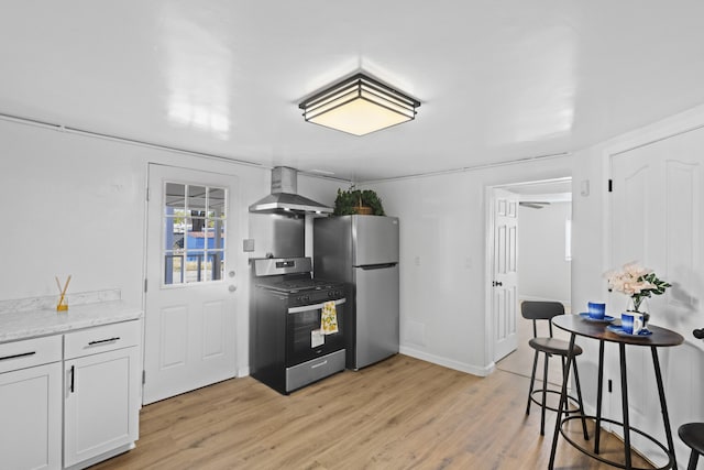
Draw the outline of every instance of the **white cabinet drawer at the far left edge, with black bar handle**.
[[[0,373],[61,360],[61,335],[0,345]]]

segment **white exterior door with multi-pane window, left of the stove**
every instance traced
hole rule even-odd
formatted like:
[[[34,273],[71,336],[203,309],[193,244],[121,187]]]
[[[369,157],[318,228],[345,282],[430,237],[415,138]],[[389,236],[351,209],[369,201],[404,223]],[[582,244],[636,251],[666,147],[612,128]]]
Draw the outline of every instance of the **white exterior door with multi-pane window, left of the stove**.
[[[235,375],[235,184],[148,167],[145,404]]]

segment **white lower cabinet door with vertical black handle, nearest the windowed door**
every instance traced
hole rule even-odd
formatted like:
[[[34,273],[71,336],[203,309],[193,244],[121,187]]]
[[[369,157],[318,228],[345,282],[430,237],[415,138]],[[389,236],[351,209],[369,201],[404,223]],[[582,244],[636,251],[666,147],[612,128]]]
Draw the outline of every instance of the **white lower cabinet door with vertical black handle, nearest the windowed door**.
[[[64,466],[134,442],[139,436],[138,348],[64,362]]]

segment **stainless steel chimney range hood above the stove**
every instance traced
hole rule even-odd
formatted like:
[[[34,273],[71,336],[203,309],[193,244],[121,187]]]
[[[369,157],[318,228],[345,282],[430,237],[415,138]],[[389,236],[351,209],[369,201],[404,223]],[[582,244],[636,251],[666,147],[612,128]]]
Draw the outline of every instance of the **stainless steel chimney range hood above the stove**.
[[[298,195],[298,172],[287,166],[272,168],[272,194],[250,206],[250,212],[332,214],[332,207]]]

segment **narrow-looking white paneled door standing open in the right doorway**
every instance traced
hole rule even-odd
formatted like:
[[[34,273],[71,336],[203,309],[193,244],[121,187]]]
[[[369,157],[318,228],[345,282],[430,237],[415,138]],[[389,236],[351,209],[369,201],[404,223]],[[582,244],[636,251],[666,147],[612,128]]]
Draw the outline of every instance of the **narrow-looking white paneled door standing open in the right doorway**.
[[[518,195],[494,189],[494,361],[516,350],[518,313]]]

